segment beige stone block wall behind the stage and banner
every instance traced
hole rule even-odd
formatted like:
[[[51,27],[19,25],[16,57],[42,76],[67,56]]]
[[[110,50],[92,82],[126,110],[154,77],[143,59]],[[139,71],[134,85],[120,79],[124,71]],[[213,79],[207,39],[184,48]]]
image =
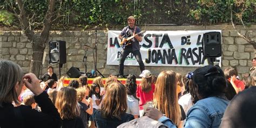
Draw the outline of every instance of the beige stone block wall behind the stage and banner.
[[[256,25],[251,25],[247,30],[242,26],[237,26],[241,33],[250,33],[256,41]],[[144,29],[144,28],[143,28]],[[120,30],[120,29],[112,29]],[[248,73],[251,59],[255,57],[254,48],[244,39],[238,36],[232,25],[211,25],[211,26],[147,26],[146,30],[222,30],[222,69],[228,66],[237,66],[238,73],[241,76]],[[85,49],[83,45],[95,46],[95,31],[51,31],[49,41],[62,40],[66,41],[67,63],[61,69],[62,75],[75,66],[81,71],[85,71],[83,56]],[[106,65],[107,53],[107,31],[101,30],[97,34],[98,54],[97,69],[106,77],[110,74],[118,74],[118,66]],[[27,41],[22,31],[0,31],[0,58],[8,59],[21,65],[25,72],[29,72],[29,66],[32,54],[32,45]],[[42,73],[47,72],[48,64],[48,45],[44,50],[47,55],[44,64],[42,64]],[[57,75],[59,74],[58,65],[52,65]],[[92,49],[87,51],[87,72],[93,69]],[[197,69],[196,67],[171,67],[171,66],[146,66],[146,69],[158,75],[162,70],[174,70],[182,74]],[[139,75],[139,66],[125,66],[125,74],[134,73]]]

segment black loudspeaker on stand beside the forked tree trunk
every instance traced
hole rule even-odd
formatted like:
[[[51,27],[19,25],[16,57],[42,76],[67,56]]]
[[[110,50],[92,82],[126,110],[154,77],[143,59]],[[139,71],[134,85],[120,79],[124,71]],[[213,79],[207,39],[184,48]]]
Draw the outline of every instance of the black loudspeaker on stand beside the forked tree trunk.
[[[49,63],[50,64],[66,63],[66,42],[65,41],[49,42]]]

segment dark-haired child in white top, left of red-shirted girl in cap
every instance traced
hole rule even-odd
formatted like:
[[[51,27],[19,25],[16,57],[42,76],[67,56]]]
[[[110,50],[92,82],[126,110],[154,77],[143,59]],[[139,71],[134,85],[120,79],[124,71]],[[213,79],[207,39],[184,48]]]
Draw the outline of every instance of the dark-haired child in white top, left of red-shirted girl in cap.
[[[137,84],[136,84],[135,75],[130,74],[129,76],[127,76],[125,89],[127,92],[127,104],[128,104],[126,113],[132,114],[134,118],[138,118],[139,117],[139,99],[136,97]]]

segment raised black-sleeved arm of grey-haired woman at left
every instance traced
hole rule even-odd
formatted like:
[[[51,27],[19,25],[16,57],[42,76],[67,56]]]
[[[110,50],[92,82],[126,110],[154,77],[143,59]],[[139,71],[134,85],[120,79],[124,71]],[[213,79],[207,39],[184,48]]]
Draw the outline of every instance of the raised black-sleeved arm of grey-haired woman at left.
[[[23,111],[22,114],[29,117],[29,122],[33,122],[31,124],[37,124],[42,127],[60,127],[62,119],[48,94],[41,89],[39,79],[33,73],[29,73],[24,76],[23,82],[35,94],[36,103],[41,107],[42,112],[31,110],[31,108],[24,106],[24,109],[27,110]]]

